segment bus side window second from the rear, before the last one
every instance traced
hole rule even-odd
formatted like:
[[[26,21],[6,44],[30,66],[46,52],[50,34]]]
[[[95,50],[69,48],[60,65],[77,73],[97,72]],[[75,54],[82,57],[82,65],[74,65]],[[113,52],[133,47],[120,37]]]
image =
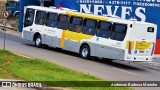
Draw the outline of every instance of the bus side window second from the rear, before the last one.
[[[112,23],[99,21],[97,36],[102,38],[109,38],[111,33],[111,27],[112,27]]]

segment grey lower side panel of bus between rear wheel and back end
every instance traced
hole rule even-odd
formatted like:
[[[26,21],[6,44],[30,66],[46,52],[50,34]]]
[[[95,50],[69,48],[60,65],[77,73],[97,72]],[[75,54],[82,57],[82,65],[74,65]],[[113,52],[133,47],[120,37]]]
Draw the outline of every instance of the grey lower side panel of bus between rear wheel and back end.
[[[83,40],[81,43],[86,43],[90,47],[90,55],[101,58],[110,58],[110,59],[119,59],[124,60],[125,52],[123,49],[111,47],[108,45],[97,43],[96,37],[93,37],[88,40]],[[82,45],[81,44],[81,45]],[[80,47],[79,47],[80,48]]]

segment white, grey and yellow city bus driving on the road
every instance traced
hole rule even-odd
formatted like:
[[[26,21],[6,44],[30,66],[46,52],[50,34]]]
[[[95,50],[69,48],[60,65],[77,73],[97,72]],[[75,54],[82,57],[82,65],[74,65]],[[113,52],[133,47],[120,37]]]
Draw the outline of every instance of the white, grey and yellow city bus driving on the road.
[[[157,25],[67,8],[25,7],[22,38],[90,57],[152,61]]]

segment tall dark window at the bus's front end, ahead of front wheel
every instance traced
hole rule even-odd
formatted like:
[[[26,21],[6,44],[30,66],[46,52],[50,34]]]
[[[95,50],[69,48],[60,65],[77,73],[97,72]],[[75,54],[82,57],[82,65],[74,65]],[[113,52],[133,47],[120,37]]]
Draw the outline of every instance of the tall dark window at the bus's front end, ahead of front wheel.
[[[33,9],[27,9],[26,10],[24,27],[31,26],[33,24],[34,12],[35,12],[35,10],[33,10]]]

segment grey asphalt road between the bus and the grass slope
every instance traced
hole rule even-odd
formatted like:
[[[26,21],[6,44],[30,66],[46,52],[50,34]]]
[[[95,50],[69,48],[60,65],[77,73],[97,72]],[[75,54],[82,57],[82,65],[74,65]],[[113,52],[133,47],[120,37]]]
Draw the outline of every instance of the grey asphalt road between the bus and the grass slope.
[[[36,48],[33,42],[23,40],[20,33],[6,35],[6,49],[25,56],[41,58],[73,70],[94,75],[110,81],[160,81],[160,71],[132,63],[84,60],[78,54],[55,48]],[[3,33],[0,31],[0,48],[3,48]],[[151,90],[152,88],[136,88]],[[154,88],[154,90],[160,88]]]

